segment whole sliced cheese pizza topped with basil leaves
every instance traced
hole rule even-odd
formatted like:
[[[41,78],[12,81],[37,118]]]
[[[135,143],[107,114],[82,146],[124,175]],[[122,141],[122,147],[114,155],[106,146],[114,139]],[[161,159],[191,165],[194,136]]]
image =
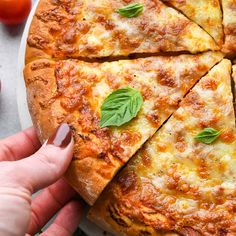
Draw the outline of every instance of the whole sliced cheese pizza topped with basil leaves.
[[[115,235],[236,235],[236,0],[40,0],[24,77],[44,142]]]

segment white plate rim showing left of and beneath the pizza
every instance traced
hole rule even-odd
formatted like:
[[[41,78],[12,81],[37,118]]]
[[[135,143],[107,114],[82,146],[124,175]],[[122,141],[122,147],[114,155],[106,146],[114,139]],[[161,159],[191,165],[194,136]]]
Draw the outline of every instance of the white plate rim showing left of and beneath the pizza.
[[[25,83],[24,83],[24,77],[23,77],[23,69],[25,65],[26,39],[27,39],[29,27],[30,27],[38,2],[39,0],[37,0],[36,3],[34,4],[34,7],[32,8],[31,13],[28,17],[28,20],[24,29],[24,33],[22,35],[19,56],[18,56],[18,68],[17,68],[18,78],[17,78],[17,91],[16,92],[17,92],[18,113],[19,113],[19,119],[20,119],[20,124],[21,124],[22,129],[25,129],[32,125],[32,121],[30,118],[27,101],[26,101],[26,89],[25,89]],[[84,215],[82,217],[80,228],[89,236],[104,236],[103,230],[101,230],[92,222],[90,222],[88,219],[86,219],[86,213],[87,213],[87,210],[84,212]],[[106,235],[109,236],[109,234],[106,234]]]

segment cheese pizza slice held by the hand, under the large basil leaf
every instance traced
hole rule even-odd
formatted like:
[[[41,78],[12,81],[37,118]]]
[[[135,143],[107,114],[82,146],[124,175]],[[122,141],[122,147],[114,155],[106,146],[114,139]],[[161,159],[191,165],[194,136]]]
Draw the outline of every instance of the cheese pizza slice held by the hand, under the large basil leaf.
[[[222,57],[221,53],[207,52],[105,63],[36,60],[25,68],[30,113],[42,141],[58,124],[70,125],[75,148],[66,177],[93,204],[118,169]],[[127,87],[142,95],[138,115],[124,125],[102,128],[104,100]],[[126,102],[124,97],[121,100]],[[116,111],[114,104],[110,106]],[[123,113],[116,114],[123,118]]]

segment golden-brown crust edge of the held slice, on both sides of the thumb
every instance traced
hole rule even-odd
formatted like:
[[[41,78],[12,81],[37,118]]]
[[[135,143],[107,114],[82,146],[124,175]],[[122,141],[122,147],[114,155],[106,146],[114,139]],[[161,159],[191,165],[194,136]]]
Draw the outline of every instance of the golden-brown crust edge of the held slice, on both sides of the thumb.
[[[63,111],[59,100],[54,104],[48,104],[50,99],[54,99],[53,97],[57,92],[54,70],[55,62],[48,59],[30,62],[24,69],[28,107],[41,143],[45,142],[60,124],[57,120],[57,114],[54,114],[55,108],[56,112]],[[114,175],[114,170],[120,168],[118,161],[113,164],[115,164],[115,167],[111,169],[112,175]],[[72,160],[65,174],[68,183],[89,205],[95,202],[110,181],[94,171],[92,166],[95,165],[98,165],[97,159],[89,157],[82,160]],[[90,176],[89,179],[88,176]]]

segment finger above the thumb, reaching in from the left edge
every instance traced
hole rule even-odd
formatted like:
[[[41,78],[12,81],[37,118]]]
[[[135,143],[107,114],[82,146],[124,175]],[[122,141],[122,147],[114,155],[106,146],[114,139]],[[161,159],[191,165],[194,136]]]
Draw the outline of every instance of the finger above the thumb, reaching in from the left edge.
[[[0,161],[15,161],[32,155],[40,148],[33,127],[0,141]]]

